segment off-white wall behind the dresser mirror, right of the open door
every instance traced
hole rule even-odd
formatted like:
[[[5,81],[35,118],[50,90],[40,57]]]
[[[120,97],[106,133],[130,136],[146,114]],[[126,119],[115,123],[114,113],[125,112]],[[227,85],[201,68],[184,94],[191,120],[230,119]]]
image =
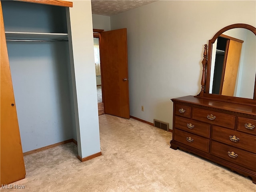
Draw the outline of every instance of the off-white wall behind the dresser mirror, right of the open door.
[[[255,1],[157,1],[111,16],[111,30],[127,28],[130,115],[171,128],[170,99],[200,92],[204,44],[230,24],[256,26],[255,7]]]

